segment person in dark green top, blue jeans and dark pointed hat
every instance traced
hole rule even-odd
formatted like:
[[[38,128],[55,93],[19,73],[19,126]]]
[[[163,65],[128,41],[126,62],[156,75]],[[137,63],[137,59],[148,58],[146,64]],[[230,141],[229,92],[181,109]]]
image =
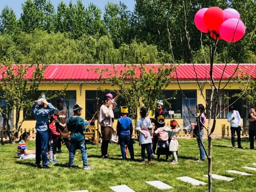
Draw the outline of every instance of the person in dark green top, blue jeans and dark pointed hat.
[[[87,150],[85,145],[84,131],[85,131],[85,122],[81,116],[83,108],[76,104],[73,107],[74,115],[68,119],[68,131],[70,134],[70,149],[69,149],[69,163],[68,168],[74,167],[74,157],[76,154],[76,149],[80,149],[84,170],[92,169],[88,164],[87,159]]]

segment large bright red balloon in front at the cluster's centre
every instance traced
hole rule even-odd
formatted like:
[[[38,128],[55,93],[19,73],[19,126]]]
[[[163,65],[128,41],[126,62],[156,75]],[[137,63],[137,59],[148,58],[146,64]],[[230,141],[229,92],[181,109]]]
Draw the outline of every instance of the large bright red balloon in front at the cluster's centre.
[[[219,7],[210,7],[204,13],[204,25],[209,31],[218,31],[224,21],[224,13]]]

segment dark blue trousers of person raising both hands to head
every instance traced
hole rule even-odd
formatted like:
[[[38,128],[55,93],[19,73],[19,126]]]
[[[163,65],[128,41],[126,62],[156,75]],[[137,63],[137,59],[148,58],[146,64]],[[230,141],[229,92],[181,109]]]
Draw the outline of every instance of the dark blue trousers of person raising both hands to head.
[[[48,145],[48,132],[37,131],[36,132],[36,164],[39,165],[41,160],[43,165],[48,165],[49,161],[47,158],[47,145]]]

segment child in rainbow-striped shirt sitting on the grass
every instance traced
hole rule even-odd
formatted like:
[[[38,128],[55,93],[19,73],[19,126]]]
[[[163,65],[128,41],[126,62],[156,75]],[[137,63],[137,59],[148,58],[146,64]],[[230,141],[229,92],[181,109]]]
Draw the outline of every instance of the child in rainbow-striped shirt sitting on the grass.
[[[26,142],[30,139],[29,132],[24,132],[20,135],[20,140],[18,143],[17,155],[20,159],[35,159],[36,150],[28,150]]]

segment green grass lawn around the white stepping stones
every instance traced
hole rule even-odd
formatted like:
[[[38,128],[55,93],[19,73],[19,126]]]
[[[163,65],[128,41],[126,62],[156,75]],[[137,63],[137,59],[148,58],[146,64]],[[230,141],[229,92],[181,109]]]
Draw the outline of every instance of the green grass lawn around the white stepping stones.
[[[52,169],[42,170],[34,167],[35,160],[20,160],[17,158],[17,145],[4,144],[0,146],[0,191],[72,191],[87,189],[93,191],[112,191],[109,187],[125,184],[136,192],[150,191],[207,191],[208,187],[193,186],[176,177],[189,176],[207,183],[207,161],[199,163],[199,149],[196,140],[179,139],[178,165],[171,165],[164,161],[153,161],[152,164],[140,163],[140,147],[134,144],[137,162],[122,161],[120,147],[109,144],[109,159],[100,158],[100,146],[87,145],[89,164],[93,170],[84,171],[81,153],[75,156],[75,169],[68,169],[68,151],[62,146],[63,154],[57,154],[58,163],[50,164]],[[213,140],[213,173],[233,177],[233,181],[213,179],[213,191],[255,191],[256,172],[241,167],[256,163],[256,150],[249,150],[249,140],[242,139],[244,149],[225,147],[231,145],[230,140]],[[204,140],[205,146],[207,140]],[[28,142],[28,149],[34,149],[35,142]],[[243,149],[242,149],[243,150]],[[254,166],[256,167],[256,166]],[[242,176],[226,172],[238,170],[252,173],[252,176]],[[145,183],[145,181],[160,180],[173,189],[159,190]]]

